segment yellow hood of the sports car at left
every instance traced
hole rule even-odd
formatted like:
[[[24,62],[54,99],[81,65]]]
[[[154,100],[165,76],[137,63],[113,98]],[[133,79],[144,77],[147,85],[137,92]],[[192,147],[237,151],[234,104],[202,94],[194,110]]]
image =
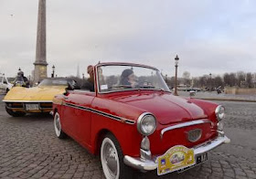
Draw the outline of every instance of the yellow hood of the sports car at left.
[[[15,87],[6,94],[5,100],[51,100],[57,94],[65,91],[65,86],[44,86],[44,87]]]

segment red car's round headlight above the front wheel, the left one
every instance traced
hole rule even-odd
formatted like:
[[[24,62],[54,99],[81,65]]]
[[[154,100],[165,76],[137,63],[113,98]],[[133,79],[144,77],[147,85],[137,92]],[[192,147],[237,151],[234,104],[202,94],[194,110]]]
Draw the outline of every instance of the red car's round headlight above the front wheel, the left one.
[[[145,136],[151,135],[153,132],[155,132],[155,128],[156,120],[151,113],[145,112],[140,115],[137,121],[137,129],[141,134]]]

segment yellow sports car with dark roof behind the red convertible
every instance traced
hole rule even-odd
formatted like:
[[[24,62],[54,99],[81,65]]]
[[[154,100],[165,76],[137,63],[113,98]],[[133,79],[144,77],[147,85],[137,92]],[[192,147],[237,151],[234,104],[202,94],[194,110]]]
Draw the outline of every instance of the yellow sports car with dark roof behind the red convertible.
[[[24,116],[26,113],[49,112],[52,110],[53,97],[65,92],[68,84],[79,89],[75,80],[64,78],[43,79],[33,88],[15,87],[3,100],[5,110],[14,117]]]

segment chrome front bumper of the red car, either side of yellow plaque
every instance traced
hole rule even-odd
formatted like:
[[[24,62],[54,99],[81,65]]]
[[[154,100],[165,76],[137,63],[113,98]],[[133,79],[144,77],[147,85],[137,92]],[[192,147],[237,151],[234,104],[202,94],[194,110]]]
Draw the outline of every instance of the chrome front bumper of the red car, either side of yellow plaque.
[[[218,138],[212,141],[204,142],[194,147],[194,153],[195,155],[200,153],[206,153],[214,149],[215,147],[218,147],[222,143],[229,143],[229,142],[230,140],[227,136],[225,135],[223,137],[219,136]],[[125,155],[123,158],[123,163],[141,171],[151,171],[157,168],[156,158],[157,156],[153,157],[152,160],[142,160],[140,157],[131,157],[131,156]]]

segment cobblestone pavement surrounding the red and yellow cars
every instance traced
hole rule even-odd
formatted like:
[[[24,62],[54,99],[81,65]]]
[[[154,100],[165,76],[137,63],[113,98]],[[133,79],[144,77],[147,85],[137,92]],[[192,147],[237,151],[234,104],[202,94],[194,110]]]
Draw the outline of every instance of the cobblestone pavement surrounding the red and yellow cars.
[[[0,96],[2,100],[3,96]],[[138,178],[256,178],[256,103],[221,102],[228,115],[231,143],[209,154],[210,160],[182,174]],[[100,158],[72,139],[55,137],[51,116],[8,116],[0,102],[0,178],[104,178]]]

